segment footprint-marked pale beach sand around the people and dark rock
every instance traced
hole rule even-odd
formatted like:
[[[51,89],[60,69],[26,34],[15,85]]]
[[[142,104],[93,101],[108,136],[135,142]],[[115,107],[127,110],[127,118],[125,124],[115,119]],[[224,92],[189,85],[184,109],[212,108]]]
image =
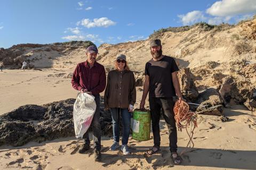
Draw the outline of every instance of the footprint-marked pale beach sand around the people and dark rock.
[[[64,78],[72,71],[3,70],[0,72],[0,114],[25,104],[41,105],[75,98],[77,92],[71,87],[70,79]],[[142,91],[137,90],[135,107],[138,107],[141,95]],[[152,133],[148,141],[140,142],[130,137],[128,145],[132,154],[126,156],[118,150],[109,151],[113,139],[102,137],[101,162],[94,162],[92,149],[79,154],[82,141],[69,137],[29,142],[21,147],[1,146],[0,169],[256,169],[256,116],[244,106],[225,108],[224,114],[229,117],[228,122],[221,122],[218,116],[198,115],[194,149],[183,154],[183,163],[174,167],[167,126],[161,120],[161,151],[151,157],[143,154],[153,146]],[[187,143],[186,131],[178,132],[178,152]]]

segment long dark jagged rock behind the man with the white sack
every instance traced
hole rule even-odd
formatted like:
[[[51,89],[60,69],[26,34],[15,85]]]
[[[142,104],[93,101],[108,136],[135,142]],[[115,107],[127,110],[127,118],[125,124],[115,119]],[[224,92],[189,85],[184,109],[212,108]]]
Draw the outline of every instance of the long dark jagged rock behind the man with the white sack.
[[[29,141],[42,142],[61,137],[74,137],[74,103],[75,99],[66,99],[42,106],[25,105],[1,115],[0,145],[22,146]],[[102,135],[112,135],[111,121],[111,113],[104,111],[103,98],[101,97],[100,124]]]

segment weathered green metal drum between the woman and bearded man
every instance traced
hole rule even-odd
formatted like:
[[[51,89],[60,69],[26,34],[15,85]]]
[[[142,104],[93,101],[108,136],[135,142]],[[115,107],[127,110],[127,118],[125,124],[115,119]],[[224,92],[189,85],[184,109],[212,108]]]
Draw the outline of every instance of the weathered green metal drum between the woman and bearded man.
[[[133,112],[132,139],[145,141],[150,136],[150,111],[135,109]]]

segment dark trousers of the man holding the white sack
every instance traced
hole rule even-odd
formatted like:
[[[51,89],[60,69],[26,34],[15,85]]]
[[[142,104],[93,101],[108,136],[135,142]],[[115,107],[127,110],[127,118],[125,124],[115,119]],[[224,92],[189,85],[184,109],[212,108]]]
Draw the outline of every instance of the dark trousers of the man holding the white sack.
[[[96,111],[92,118],[92,133],[93,133],[93,146],[94,149],[101,150],[101,132],[100,132],[100,95],[95,95]],[[90,145],[89,131],[87,131],[83,138],[86,144]]]

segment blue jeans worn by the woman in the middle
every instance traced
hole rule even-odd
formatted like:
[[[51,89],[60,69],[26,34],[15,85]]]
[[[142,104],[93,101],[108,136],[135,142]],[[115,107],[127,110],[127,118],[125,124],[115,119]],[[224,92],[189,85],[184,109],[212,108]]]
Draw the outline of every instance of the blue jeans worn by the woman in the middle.
[[[114,141],[119,143],[119,113],[121,112],[123,118],[122,145],[127,145],[130,134],[131,114],[128,112],[127,108],[110,108],[110,111],[112,115]]]

